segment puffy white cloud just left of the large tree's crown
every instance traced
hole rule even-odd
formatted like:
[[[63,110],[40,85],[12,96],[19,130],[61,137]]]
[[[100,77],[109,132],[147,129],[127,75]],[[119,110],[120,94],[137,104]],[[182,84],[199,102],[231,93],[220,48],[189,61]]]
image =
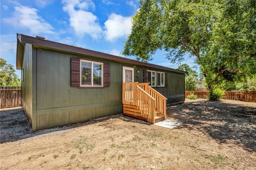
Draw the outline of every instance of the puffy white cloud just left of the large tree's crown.
[[[105,24],[105,38],[108,41],[114,41],[117,38],[125,37],[131,33],[131,17],[125,17],[112,13],[109,15]]]

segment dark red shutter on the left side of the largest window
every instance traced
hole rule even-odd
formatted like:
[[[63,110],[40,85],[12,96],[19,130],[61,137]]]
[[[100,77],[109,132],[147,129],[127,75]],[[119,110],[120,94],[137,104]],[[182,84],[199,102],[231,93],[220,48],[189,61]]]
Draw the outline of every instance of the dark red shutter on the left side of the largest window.
[[[80,60],[78,58],[71,58],[70,85],[71,87],[80,86]]]

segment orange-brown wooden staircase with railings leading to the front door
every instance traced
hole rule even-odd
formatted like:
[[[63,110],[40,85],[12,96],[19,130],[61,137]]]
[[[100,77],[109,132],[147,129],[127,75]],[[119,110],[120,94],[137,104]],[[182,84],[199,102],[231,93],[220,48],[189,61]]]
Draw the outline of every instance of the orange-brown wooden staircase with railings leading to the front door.
[[[149,83],[123,83],[123,114],[150,123],[165,120],[166,98]]]

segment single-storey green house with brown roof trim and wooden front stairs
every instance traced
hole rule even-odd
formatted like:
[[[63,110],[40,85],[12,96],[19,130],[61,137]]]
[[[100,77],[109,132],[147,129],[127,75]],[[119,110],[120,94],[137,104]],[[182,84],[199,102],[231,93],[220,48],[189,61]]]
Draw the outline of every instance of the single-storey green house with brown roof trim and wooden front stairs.
[[[17,33],[16,64],[33,131],[119,113],[154,123],[185,100],[186,72],[43,37]]]

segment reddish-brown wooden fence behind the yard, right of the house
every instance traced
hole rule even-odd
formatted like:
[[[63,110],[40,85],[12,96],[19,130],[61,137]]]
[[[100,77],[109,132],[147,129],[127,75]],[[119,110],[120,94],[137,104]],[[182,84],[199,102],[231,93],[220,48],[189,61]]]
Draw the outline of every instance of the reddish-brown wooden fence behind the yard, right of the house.
[[[199,99],[206,99],[209,91],[186,91],[185,97],[187,98],[189,94],[195,94]],[[226,91],[222,99],[256,102],[256,91]]]

